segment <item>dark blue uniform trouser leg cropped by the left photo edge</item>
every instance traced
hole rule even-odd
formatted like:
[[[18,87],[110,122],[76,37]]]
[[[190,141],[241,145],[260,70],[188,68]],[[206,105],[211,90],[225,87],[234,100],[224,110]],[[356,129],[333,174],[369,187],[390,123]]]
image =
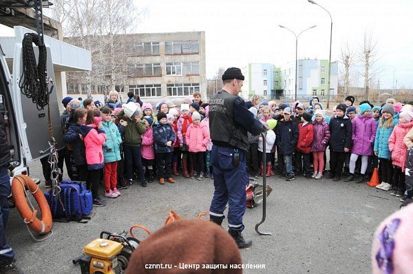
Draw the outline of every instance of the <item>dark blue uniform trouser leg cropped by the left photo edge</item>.
[[[10,211],[8,196],[10,193],[10,177],[7,168],[0,167],[0,264],[2,261],[11,260],[14,257],[12,248],[6,244],[6,224]]]

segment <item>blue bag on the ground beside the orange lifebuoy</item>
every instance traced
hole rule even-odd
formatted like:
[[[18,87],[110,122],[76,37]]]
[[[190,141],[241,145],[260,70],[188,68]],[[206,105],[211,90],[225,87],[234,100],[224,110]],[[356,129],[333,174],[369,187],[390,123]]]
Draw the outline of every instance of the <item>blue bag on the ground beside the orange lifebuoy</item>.
[[[81,221],[93,209],[92,193],[83,182],[62,181],[61,193],[54,197],[52,190],[45,193],[52,217],[66,221]]]

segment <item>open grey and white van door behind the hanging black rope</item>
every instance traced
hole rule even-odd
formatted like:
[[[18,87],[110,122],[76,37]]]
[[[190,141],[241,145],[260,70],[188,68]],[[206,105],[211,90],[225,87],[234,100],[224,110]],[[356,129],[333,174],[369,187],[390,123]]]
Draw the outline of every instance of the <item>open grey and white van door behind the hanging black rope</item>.
[[[36,54],[36,61],[39,61],[39,50],[37,47],[34,47],[34,53]],[[51,56],[50,48],[47,47],[47,76],[52,78],[53,83],[55,83]],[[23,154],[28,162],[34,162],[34,160],[43,158],[50,153],[47,107],[50,107],[53,135],[57,142],[56,149],[59,150],[64,147],[59,103],[57,102],[56,90],[54,89],[52,94],[50,94],[49,106],[46,106],[43,110],[38,110],[32,99],[27,98],[21,93],[19,81],[22,72],[22,46],[21,43],[17,43],[14,47],[13,58],[12,101],[14,111],[16,112]]]

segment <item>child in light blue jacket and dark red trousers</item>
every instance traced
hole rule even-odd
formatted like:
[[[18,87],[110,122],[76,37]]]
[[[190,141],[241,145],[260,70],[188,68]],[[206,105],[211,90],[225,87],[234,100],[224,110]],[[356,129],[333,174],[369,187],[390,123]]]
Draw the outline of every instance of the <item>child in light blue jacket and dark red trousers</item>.
[[[102,116],[103,130],[106,133],[106,141],[103,145],[103,156],[105,158],[105,197],[117,198],[120,191],[117,188],[118,182],[118,161],[120,160],[120,146],[122,137],[118,127],[112,121],[112,110],[106,105],[100,108]]]

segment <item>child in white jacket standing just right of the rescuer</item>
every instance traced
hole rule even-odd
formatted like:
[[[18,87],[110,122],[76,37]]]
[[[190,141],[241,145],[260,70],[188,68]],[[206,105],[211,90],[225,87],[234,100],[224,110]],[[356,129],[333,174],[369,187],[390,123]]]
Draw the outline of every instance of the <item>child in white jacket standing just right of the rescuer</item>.
[[[265,151],[264,151],[264,140],[262,136],[258,136],[258,158],[260,159],[260,165],[264,167],[266,165],[266,173],[262,174],[262,176],[270,177],[271,176],[271,149],[273,149],[274,143],[275,143],[275,132],[274,128],[277,125],[277,120],[274,119],[269,119],[266,122],[261,122],[261,123],[266,123],[270,129],[266,131],[266,137],[265,137]],[[266,154],[266,162],[262,161],[262,154]]]

